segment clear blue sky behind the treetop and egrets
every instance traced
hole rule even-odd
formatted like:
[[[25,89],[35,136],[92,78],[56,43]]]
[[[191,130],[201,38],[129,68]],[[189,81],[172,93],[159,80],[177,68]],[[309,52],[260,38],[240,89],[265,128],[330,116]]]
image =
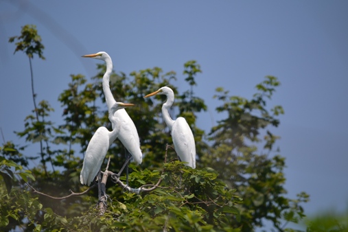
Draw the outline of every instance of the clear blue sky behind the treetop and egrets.
[[[116,71],[161,67],[176,71],[180,91],[187,60],[203,73],[194,91],[209,112],[198,126],[209,131],[218,102],[216,87],[250,98],[264,76],[281,86],[270,106],[285,115],[274,132],[286,157],[290,197],[310,194],[308,213],[348,206],[348,1],[1,1],[0,126],[6,140],[23,143],[32,111],[30,69],[21,52],[13,55],[10,36],[35,24],[45,61],[34,58],[37,100],[58,109],[58,95],[70,74],[95,74],[97,62],[80,56],[111,55]],[[61,123],[61,111],[51,121]],[[1,139],[2,143],[2,139]],[[36,145],[33,147],[35,148]]]

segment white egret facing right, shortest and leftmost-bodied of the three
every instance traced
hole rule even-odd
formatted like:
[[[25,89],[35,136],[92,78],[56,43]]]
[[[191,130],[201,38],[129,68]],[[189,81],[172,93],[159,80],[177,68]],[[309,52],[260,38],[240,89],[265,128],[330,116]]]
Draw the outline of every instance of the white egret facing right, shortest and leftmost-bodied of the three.
[[[111,107],[110,111],[108,111],[109,118],[113,117],[116,111],[128,106],[134,106],[134,104],[116,102]],[[119,135],[119,128],[120,127],[116,125],[112,131],[108,131],[104,126],[100,126],[100,128],[97,128],[97,131],[95,131],[87,146],[86,154],[84,155],[80,174],[80,182],[82,185],[90,185],[95,176],[97,176],[106,156],[106,152],[108,152],[108,148]]]

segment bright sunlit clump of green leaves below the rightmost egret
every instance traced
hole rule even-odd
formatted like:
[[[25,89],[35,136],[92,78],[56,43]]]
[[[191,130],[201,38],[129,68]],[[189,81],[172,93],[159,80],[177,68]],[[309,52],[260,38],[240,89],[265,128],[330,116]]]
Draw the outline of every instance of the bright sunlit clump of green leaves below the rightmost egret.
[[[143,194],[124,193],[113,200],[110,210],[98,217],[95,209],[69,220],[68,231],[239,231],[229,223],[237,220],[240,202],[213,170],[192,170],[183,163],[167,163],[163,174],[143,170],[132,172],[130,185],[141,186],[162,177],[161,186]],[[141,182],[142,182],[141,181]],[[209,197],[206,191],[209,190]]]

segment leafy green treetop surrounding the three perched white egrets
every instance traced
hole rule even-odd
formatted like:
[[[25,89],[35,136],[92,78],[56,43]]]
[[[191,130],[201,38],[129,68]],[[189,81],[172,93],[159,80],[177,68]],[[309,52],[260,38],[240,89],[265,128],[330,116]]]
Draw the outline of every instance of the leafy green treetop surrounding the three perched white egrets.
[[[29,38],[37,38],[34,35]],[[22,43],[25,37],[12,38]],[[201,72],[194,60],[184,65],[188,88],[182,93],[175,86],[174,71],[163,73],[154,67],[129,75],[112,73],[110,85],[115,99],[136,104],[127,111],[135,122],[145,156],[142,165],[130,165],[130,182],[125,186],[124,176],[113,175],[125,160],[124,147],[118,140],[113,143],[106,156],[111,158],[110,163],[106,159],[102,166],[103,176],[108,178],[106,193],[113,201],[106,202],[106,210],[100,215],[100,209],[95,209],[97,189],[80,185],[79,175],[92,133],[102,125],[111,129],[101,84],[105,68],[97,65],[97,75],[91,82],[80,74],[71,75],[68,88],[58,97],[64,124],[54,126],[48,120],[53,111],[48,102],[35,106],[39,117],[28,116],[24,130],[17,135],[30,143],[43,141],[45,149],[40,156],[28,156],[25,147],[11,142],[3,145],[1,230],[253,231],[262,227],[263,220],[270,220],[279,231],[289,231],[282,221],[303,218],[301,203],[308,196],[302,193],[296,200],[286,197],[285,160],[279,150],[273,155],[279,137],[269,127],[279,125],[277,117],[283,109],[275,106],[268,110],[266,103],[280,84],[277,78],[268,76],[258,84],[252,100],[229,96],[228,91],[218,88],[215,97],[222,105],[217,111],[227,113],[227,118],[205,135],[196,125],[197,113],[206,111],[207,106],[194,95],[196,77]],[[176,94],[172,114],[185,117],[194,132],[198,154],[195,170],[177,161],[170,131],[161,117],[164,96],[143,99],[166,85]],[[262,149],[259,144],[263,144]],[[41,158],[38,167],[27,165],[37,158]],[[73,192],[67,196],[70,189]]]

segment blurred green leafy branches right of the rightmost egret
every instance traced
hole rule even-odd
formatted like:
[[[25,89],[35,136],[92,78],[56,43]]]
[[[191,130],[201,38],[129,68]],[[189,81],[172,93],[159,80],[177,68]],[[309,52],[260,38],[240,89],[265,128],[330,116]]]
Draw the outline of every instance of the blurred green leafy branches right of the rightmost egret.
[[[219,170],[220,178],[244,199],[238,205],[242,231],[262,227],[264,219],[283,231],[281,220],[299,222],[304,217],[301,202],[309,198],[305,193],[294,200],[286,198],[285,159],[279,150],[272,150],[279,137],[268,127],[279,125],[277,116],[283,108],[275,106],[269,111],[266,100],[279,84],[277,78],[267,76],[257,84],[257,93],[251,100],[230,96],[223,88],[216,89],[214,96],[222,102],[216,110],[227,117],[211,129],[209,140],[213,146],[209,154],[202,156],[202,163]]]

